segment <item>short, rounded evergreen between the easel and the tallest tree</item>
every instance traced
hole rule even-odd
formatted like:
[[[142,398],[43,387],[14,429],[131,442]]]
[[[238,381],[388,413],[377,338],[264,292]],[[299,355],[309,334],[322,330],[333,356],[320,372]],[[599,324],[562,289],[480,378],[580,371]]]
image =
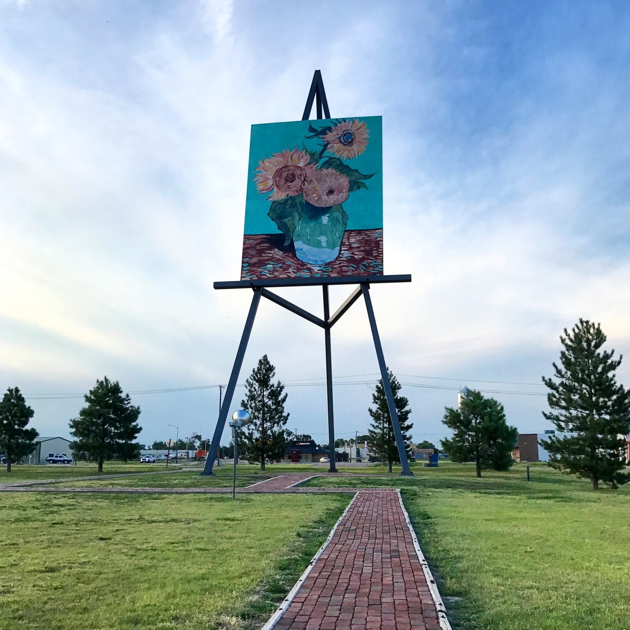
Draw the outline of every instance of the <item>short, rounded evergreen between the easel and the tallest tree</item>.
[[[478,477],[482,468],[505,471],[514,463],[518,429],[507,424],[503,405],[494,398],[469,389],[459,409],[445,409],[442,422],[454,432],[442,440],[442,449],[454,462],[474,461]]]

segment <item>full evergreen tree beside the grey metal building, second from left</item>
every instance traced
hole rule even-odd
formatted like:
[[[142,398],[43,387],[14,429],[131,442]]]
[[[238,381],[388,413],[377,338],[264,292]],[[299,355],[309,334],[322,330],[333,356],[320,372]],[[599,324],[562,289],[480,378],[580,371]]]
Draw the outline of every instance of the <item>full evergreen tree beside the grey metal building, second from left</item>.
[[[139,452],[140,445],[134,440],[142,430],[136,423],[140,408],[131,404],[129,394],[123,394],[118,381],[97,379],[85,401],[88,404],[79,411],[79,417],[70,421],[70,433],[76,438],[72,450],[78,459],[98,462],[102,473],[105,460],[127,460]]]

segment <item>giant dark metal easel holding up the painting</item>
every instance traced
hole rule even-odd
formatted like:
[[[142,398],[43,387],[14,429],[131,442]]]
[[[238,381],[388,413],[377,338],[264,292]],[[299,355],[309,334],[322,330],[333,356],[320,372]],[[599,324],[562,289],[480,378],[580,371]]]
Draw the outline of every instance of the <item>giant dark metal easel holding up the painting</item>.
[[[309,120],[311,115],[313,100],[317,102],[317,117],[318,120],[323,118],[322,108],[324,110],[324,117],[330,118],[330,112],[328,111],[328,101],[326,101],[326,92],[324,91],[324,83],[321,78],[321,72],[315,71],[313,80],[311,83],[311,91],[309,91],[309,97],[306,100],[306,107],[304,108],[304,115],[302,120]],[[251,299],[251,306],[249,307],[249,314],[247,321],[245,322],[245,328],[243,330],[243,336],[241,336],[241,343],[236,353],[236,360],[234,361],[234,367],[232,367],[232,374],[226,387],[226,395],[221,405],[221,411],[219,411],[219,420],[217,421],[217,427],[214,430],[214,436],[212,437],[212,445],[210,445],[210,451],[208,458],[205,462],[205,468],[203,469],[204,475],[212,474],[212,467],[214,461],[217,458],[217,452],[219,450],[219,442],[223,434],[223,429],[226,425],[227,413],[229,412],[230,405],[232,404],[232,396],[234,396],[234,389],[236,389],[236,381],[238,380],[239,373],[241,372],[241,366],[243,365],[243,357],[247,344],[249,341],[249,334],[251,328],[254,325],[254,319],[256,317],[256,311],[258,310],[258,304],[260,298],[275,302],[278,306],[282,306],[288,311],[294,312],[296,315],[307,319],[313,324],[316,324],[320,328],[324,329],[324,345],[326,348],[326,392],[328,394],[328,444],[330,449],[330,472],[336,473],[335,462],[335,420],[333,414],[333,367],[331,359],[331,346],[330,346],[330,329],[341,319],[341,316],[363,295],[365,301],[365,307],[367,308],[367,317],[370,321],[370,328],[372,329],[372,338],[374,339],[374,348],[376,350],[376,356],[379,360],[379,369],[381,370],[381,378],[385,387],[385,394],[387,397],[387,408],[389,409],[389,415],[391,416],[392,426],[394,427],[394,435],[396,436],[396,446],[398,447],[398,455],[400,457],[401,464],[403,465],[404,475],[413,475],[409,468],[409,462],[407,461],[407,454],[404,450],[403,433],[400,430],[400,423],[398,421],[398,413],[396,412],[396,404],[394,403],[394,394],[392,393],[391,384],[389,382],[389,375],[387,374],[387,365],[385,363],[385,357],[383,355],[383,349],[381,347],[381,338],[379,337],[379,331],[376,327],[376,319],[374,318],[374,309],[372,308],[372,298],[370,297],[370,284],[379,284],[381,282],[411,282],[411,275],[374,275],[374,276],[343,276],[333,278],[282,278],[275,280],[238,280],[236,282],[215,282],[215,289],[252,289],[254,295]],[[341,284],[357,284],[358,287],[350,294],[350,297],[341,304],[341,306],[331,316],[330,307],[328,303],[328,287],[330,285]],[[276,295],[269,290],[269,287],[311,287],[321,286],[324,297],[324,319],[320,319],[315,315],[312,315],[308,311],[301,309],[299,306],[292,304],[285,300],[280,295]]]

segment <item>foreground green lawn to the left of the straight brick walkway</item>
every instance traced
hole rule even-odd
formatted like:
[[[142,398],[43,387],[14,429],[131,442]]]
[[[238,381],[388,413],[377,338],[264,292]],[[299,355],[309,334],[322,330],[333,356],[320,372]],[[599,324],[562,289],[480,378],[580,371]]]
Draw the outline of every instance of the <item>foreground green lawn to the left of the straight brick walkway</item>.
[[[282,600],[348,501],[3,493],[0,627],[242,627]]]

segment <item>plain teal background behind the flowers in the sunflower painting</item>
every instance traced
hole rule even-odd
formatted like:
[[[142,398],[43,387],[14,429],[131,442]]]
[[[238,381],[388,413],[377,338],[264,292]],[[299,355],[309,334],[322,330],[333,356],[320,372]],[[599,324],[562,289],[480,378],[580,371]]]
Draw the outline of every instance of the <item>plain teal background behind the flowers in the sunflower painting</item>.
[[[350,193],[348,199],[343,203],[343,209],[348,213],[346,229],[378,229],[383,227],[382,117],[357,116],[346,119],[352,120],[352,118],[357,118],[357,120],[367,124],[367,128],[370,130],[369,143],[364,154],[343,162],[364,175],[368,173],[376,173],[376,175],[370,180],[365,180],[365,185],[369,190],[357,190]],[[272,203],[267,200],[270,193],[259,195],[256,189],[254,171],[258,168],[258,161],[264,157],[271,157],[279,151],[295,149],[295,147],[302,149],[306,146],[311,151],[321,149],[323,140],[319,138],[306,139],[307,135],[312,135],[309,133],[309,123],[315,129],[321,129],[328,125],[334,127],[339,120],[342,119],[298,120],[251,125],[244,234],[275,234],[280,232],[276,224],[267,216]]]

